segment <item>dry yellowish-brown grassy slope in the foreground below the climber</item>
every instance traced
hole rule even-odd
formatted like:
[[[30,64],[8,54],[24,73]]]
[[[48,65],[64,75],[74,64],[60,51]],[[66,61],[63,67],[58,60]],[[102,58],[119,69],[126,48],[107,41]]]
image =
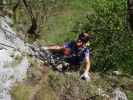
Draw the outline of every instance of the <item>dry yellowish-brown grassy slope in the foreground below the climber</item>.
[[[92,81],[86,82],[79,80],[78,72],[61,74],[51,69],[45,70],[40,76],[40,80],[35,79],[37,76],[37,74],[34,74],[34,79],[27,80],[30,81],[28,84],[24,82],[13,88],[12,96],[14,100],[86,100],[97,95],[98,88],[110,95],[112,81],[116,81],[118,86],[124,85],[125,87],[132,82],[127,77],[100,75],[99,73],[92,73]],[[126,90],[124,89],[124,91]],[[129,100],[132,100],[133,93],[131,91],[126,91],[126,93]],[[97,96],[95,100],[108,99]]]

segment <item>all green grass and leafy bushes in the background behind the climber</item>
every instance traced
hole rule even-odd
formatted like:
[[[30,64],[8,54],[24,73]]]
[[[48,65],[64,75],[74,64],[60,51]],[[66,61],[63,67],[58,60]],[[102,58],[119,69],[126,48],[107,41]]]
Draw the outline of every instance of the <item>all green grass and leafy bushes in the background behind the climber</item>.
[[[34,1],[34,2],[33,2]],[[92,70],[123,70],[133,73],[133,41],[128,31],[126,0],[29,0],[38,19],[43,44],[61,44],[83,31],[97,37],[92,42]],[[16,12],[17,29],[30,24],[23,4]],[[20,20],[21,19],[21,20]],[[23,27],[20,27],[21,25]],[[31,39],[32,41],[32,39]]]

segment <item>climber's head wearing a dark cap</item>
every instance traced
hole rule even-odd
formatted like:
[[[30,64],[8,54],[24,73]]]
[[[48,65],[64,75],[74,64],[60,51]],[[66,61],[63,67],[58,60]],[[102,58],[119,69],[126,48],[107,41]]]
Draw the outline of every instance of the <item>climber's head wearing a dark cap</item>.
[[[77,47],[83,47],[89,40],[94,40],[94,36],[91,33],[81,33],[76,41]]]

